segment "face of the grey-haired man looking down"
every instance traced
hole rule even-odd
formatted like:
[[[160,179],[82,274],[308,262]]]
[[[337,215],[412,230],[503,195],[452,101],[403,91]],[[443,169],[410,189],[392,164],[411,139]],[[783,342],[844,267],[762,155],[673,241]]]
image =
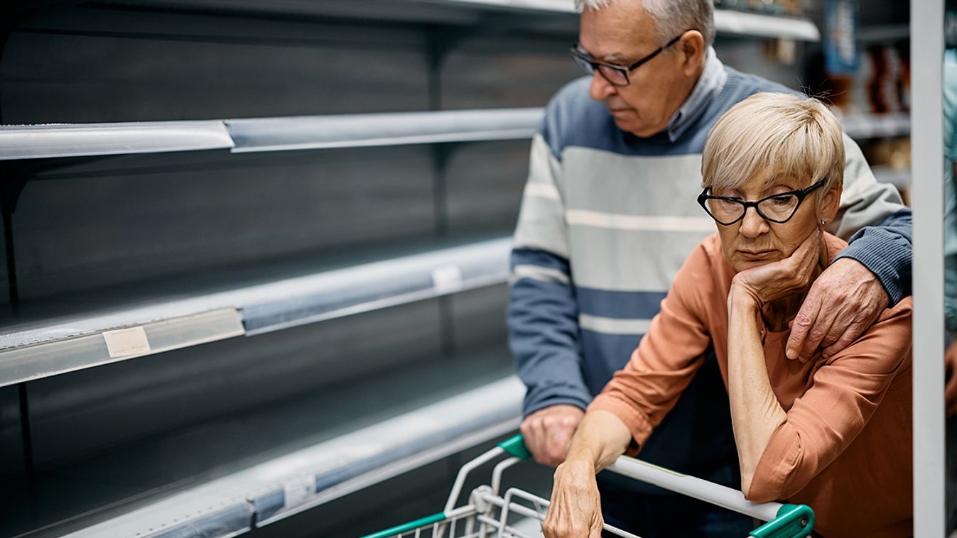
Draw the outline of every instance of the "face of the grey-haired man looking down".
[[[665,42],[672,37],[664,37]],[[655,23],[638,1],[619,0],[599,11],[582,12],[579,44],[596,60],[628,66],[664,44],[658,41]],[[638,137],[663,131],[696,79],[683,69],[686,55],[680,45],[681,41],[630,72],[631,84],[625,87],[613,86],[595,72],[590,97],[605,103],[623,131]]]

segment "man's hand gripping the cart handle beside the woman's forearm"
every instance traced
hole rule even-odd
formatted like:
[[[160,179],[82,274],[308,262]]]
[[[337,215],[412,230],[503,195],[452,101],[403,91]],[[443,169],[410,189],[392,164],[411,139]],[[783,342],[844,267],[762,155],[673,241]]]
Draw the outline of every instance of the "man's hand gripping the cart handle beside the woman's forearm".
[[[525,417],[519,430],[535,461],[554,467],[565,461],[583,417],[585,412],[574,405],[552,405]]]

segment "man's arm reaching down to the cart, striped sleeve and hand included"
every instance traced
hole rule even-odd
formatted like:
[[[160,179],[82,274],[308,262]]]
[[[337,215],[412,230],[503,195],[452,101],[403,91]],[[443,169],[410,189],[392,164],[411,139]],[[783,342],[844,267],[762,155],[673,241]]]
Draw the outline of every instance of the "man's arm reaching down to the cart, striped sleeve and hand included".
[[[508,304],[509,345],[527,393],[522,433],[539,463],[557,465],[591,400],[578,351],[561,163],[543,135],[532,140],[528,182],[515,231]]]

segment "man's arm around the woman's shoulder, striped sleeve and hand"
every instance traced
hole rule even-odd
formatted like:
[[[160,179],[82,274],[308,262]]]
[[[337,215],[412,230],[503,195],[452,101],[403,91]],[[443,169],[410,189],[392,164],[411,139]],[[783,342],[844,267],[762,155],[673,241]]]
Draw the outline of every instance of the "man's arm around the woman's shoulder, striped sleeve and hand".
[[[910,294],[910,209],[893,185],[878,183],[857,143],[844,136],[844,193],[828,231],[850,239],[814,282],[794,318],[790,358],[823,348],[835,355],[874,324],[880,312]]]

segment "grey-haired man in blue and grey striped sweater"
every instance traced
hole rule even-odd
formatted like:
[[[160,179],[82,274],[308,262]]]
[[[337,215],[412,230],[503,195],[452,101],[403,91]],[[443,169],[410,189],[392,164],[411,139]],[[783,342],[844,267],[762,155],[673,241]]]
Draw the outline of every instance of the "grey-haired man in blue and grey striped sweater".
[[[584,409],[624,366],[685,257],[714,225],[694,204],[714,122],[759,92],[787,92],[723,66],[711,0],[576,0],[571,55],[589,78],[548,104],[532,141],[512,252],[508,323],[527,386],[522,432],[561,463]],[[910,212],[845,137],[844,194],[828,229],[850,239],[793,320],[788,356],[834,355],[910,290]],[[740,487],[714,360],[641,457]],[[750,521],[599,475],[612,525],[642,536],[727,535]]]

